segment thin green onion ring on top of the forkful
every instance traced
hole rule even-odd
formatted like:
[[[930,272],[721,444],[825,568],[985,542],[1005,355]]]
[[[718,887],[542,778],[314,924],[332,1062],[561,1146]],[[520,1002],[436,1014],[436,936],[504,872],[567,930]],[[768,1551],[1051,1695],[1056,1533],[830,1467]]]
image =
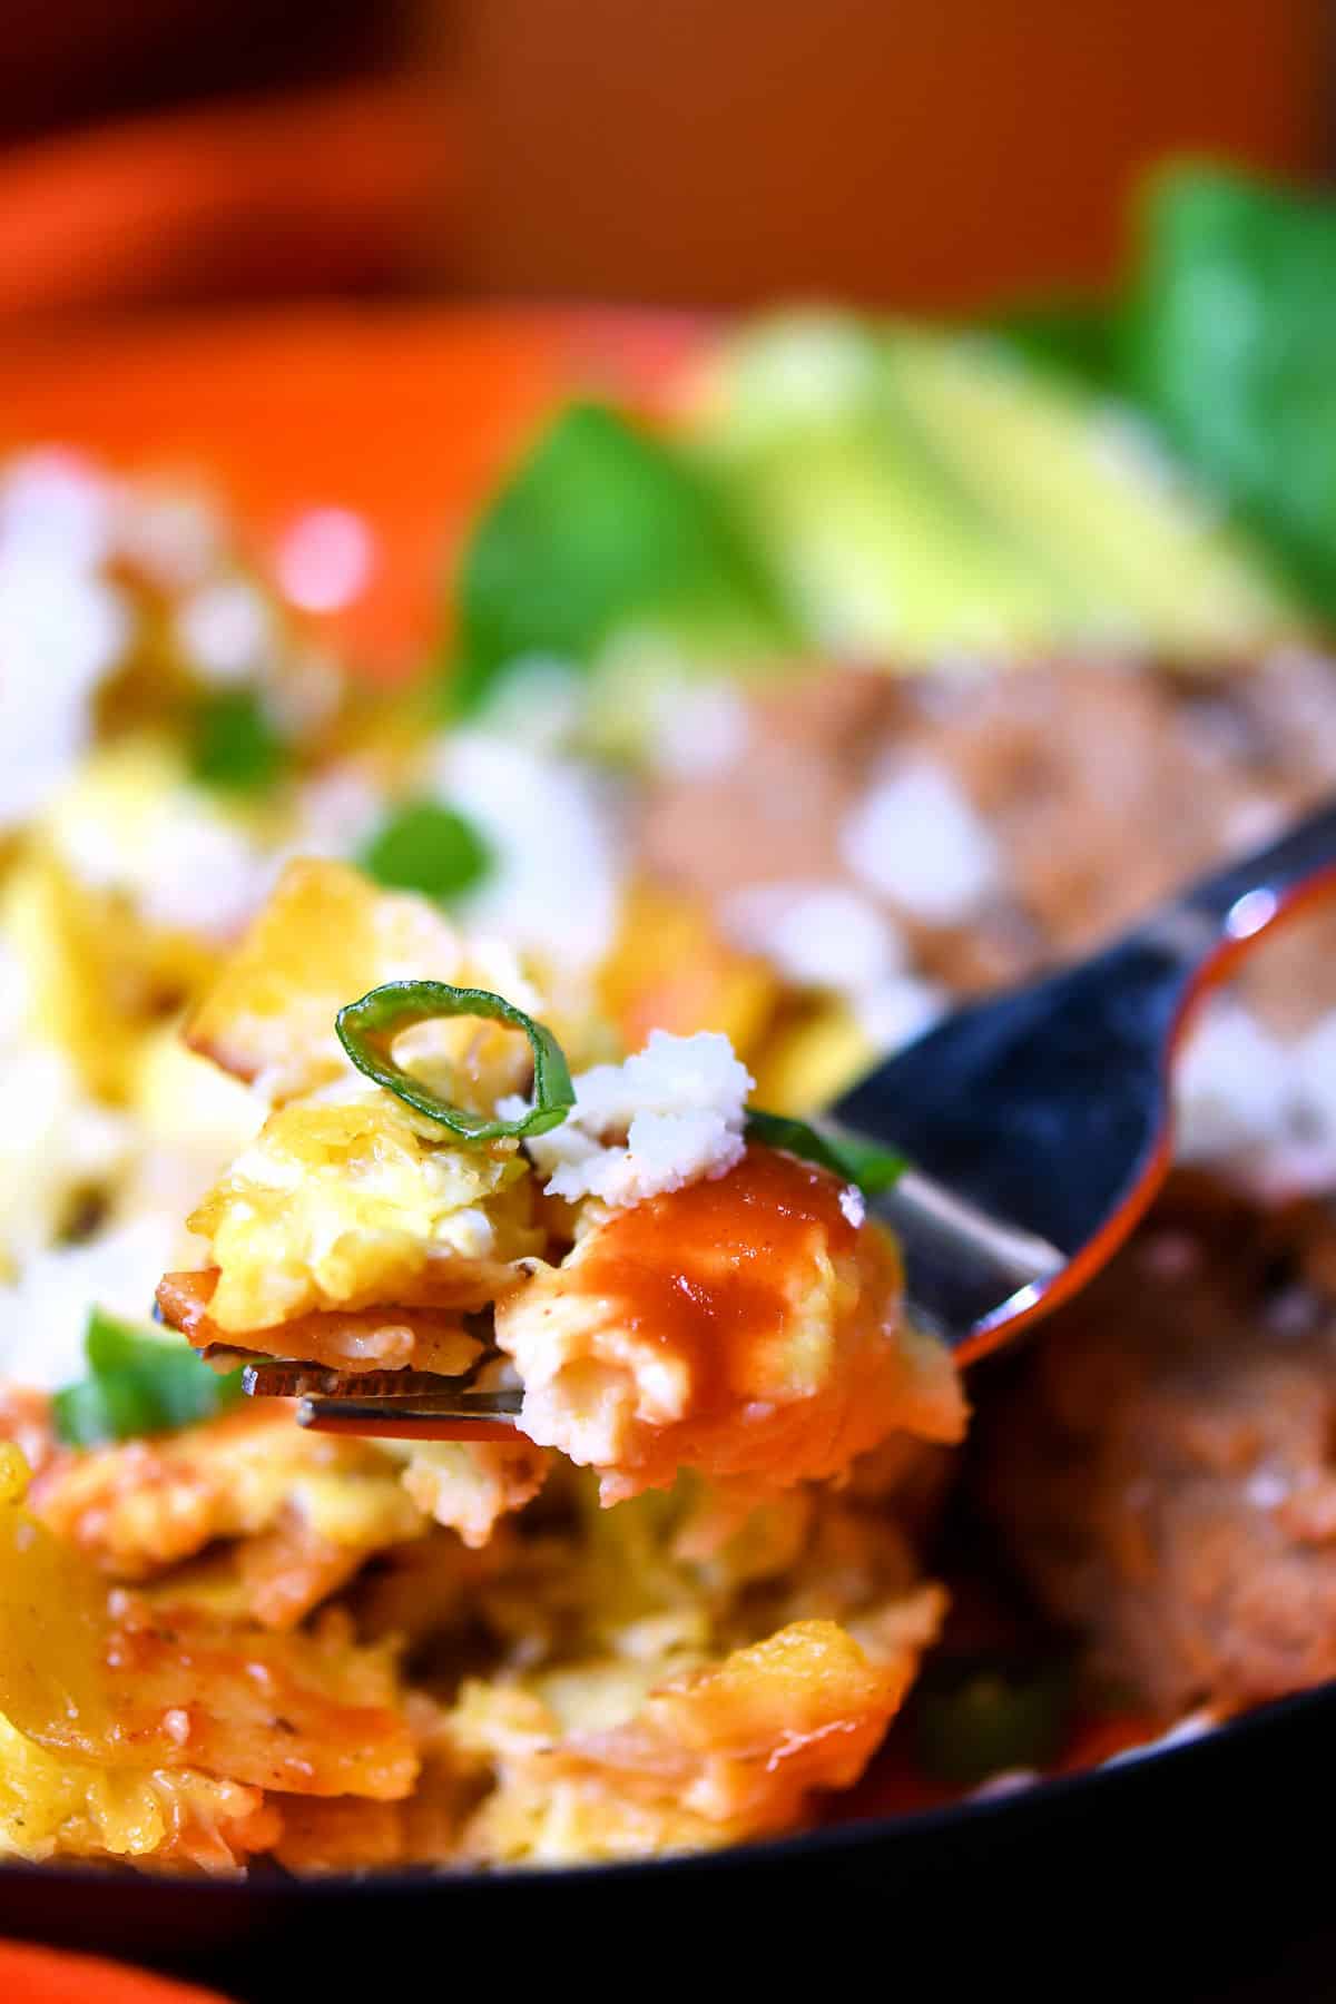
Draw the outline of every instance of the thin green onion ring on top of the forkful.
[[[439,1016],[483,1016],[509,1030],[523,1030],[533,1050],[533,1106],[517,1120],[475,1114],[453,1106],[395,1064],[391,1046],[419,1022]],[[575,1106],[575,1086],[561,1044],[541,1022],[525,1016],[487,988],[451,988],[449,982],[387,982],[361,1002],[347,1002],[335,1018],[339,1042],[367,1078],[393,1092],[429,1120],[439,1120],[461,1140],[499,1140],[505,1134],[547,1134]]]

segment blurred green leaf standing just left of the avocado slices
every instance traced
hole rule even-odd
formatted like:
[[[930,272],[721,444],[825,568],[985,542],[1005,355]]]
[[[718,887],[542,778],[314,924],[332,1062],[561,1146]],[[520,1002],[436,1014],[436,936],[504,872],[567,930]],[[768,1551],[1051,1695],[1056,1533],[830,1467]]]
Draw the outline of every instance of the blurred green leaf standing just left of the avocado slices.
[[[721,653],[785,645],[773,589],[707,477],[597,403],[563,411],[479,521],[459,575],[451,701],[515,661],[587,667],[627,627]]]

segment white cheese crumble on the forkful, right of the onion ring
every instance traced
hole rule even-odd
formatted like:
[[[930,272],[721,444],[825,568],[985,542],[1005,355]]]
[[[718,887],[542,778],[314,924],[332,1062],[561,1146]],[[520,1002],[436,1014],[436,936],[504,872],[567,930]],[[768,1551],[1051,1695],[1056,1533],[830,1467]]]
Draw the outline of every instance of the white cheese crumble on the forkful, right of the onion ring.
[[[595,1064],[575,1078],[565,1126],[535,1134],[529,1152],[547,1190],[615,1208],[723,1176],[743,1154],[747,1094],[755,1080],[727,1036],[651,1030],[625,1064]],[[507,1102],[515,1118],[523,1102]]]

